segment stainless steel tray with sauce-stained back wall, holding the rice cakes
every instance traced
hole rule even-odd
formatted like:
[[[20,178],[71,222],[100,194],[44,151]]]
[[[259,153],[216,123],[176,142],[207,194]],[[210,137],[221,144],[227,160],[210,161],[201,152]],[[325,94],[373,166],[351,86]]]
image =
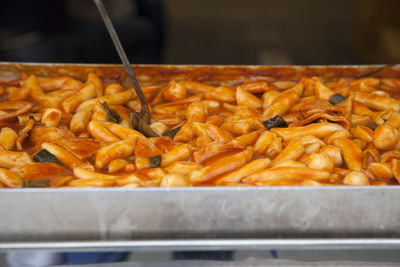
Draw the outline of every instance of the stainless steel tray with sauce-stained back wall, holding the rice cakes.
[[[354,77],[377,66],[138,66],[152,84],[301,75]],[[95,71],[118,65],[0,63],[0,80]],[[379,75],[398,77],[398,67]],[[0,190],[1,249],[400,247],[400,187],[199,187]]]

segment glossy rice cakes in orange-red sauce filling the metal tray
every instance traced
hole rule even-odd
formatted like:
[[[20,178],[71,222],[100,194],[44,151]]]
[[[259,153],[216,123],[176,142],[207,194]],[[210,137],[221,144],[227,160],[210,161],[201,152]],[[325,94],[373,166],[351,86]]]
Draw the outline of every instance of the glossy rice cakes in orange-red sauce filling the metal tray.
[[[24,75],[2,88],[3,187],[27,180],[49,180],[52,187],[395,185],[400,180],[396,78],[315,76],[212,85],[177,80],[143,87],[152,125],[160,133],[178,129],[161,138],[131,128],[129,113],[140,108],[131,88],[94,73],[85,80]],[[337,94],[344,101],[331,103]],[[104,102],[118,114],[118,123]],[[268,130],[263,122],[276,116],[288,128]],[[59,163],[35,162],[43,149]]]

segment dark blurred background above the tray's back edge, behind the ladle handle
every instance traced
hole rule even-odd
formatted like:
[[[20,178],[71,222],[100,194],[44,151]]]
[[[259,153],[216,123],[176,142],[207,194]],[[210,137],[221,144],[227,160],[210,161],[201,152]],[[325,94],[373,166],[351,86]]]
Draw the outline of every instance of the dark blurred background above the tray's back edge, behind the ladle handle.
[[[132,63],[400,61],[397,0],[103,0]],[[119,63],[92,0],[2,0],[0,61]]]

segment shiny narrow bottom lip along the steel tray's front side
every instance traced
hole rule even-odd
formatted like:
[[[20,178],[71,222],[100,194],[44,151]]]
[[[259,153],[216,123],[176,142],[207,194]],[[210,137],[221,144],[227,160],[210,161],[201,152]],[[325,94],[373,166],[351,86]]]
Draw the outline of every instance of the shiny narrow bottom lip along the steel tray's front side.
[[[0,242],[0,251],[191,251],[259,249],[399,249],[400,238],[260,238],[260,239],[169,239],[115,241]]]

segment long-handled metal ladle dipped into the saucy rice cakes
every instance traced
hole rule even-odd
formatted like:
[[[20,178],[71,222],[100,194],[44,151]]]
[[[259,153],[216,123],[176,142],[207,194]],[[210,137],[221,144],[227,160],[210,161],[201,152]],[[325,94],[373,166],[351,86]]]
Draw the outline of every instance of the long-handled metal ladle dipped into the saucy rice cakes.
[[[133,117],[131,118],[131,122],[134,121],[136,125],[135,128],[138,128],[140,132],[142,132],[144,135],[147,137],[159,137],[161,136],[159,133],[157,133],[155,130],[153,130],[149,123],[150,123],[150,110],[149,110],[149,105],[147,104],[146,98],[143,94],[142,89],[140,88],[140,85],[136,79],[135,72],[133,71],[128,57],[126,56],[125,50],[122,47],[122,44],[118,38],[118,35],[115,31],[115,28],[111,22],[111,19],[108,15],[107,9],[105,8],[103,2],[101,0],[93,0],[94,3],[96,4],[97,8],[99,9],[100,15],[103,19],[104,24],[106,25],[106,28],[108,30],[108,33],[110,34],[110,37],[114,43],[115,49],[118,52],[118,55],[122,61],[122,64],[125,67],[126,72],[128,73],[129,78],[132,81],[133,88],[135,89],[136,95],[139,98],[140,101],[140,106],[141,109],[139,112],[134,112]]]

